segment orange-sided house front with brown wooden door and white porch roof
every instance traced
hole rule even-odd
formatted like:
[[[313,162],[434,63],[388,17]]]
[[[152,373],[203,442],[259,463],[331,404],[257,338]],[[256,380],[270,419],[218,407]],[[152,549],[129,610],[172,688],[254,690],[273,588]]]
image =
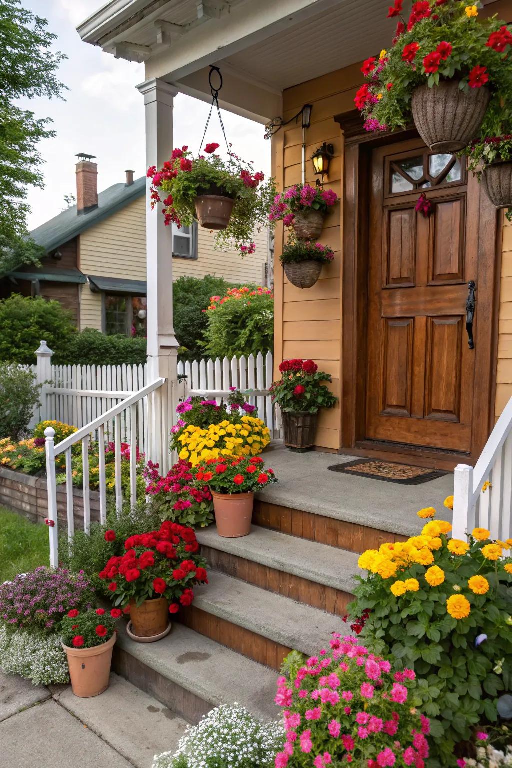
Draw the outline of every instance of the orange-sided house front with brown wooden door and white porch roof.
[[[209,101],[206,65],[223,73],[224,109],[258,121],[262,133],[273,121],[280,189],[303,174],[314,183],[309,158],[332,144],[325,184],[341,204],[320,242],[335,260],[311,289],[283,276],[283,229],[276,229],[276,365],[311,357],[332,374],[339,406],[319,416],[319,447],[453,468],[477,459],[512,396],[512,227],[464,160],[431,153],[414,129],[364,130],[354,106],[361,64],[386,48],[396,26],[383,18],[384,5],[163,0],[155,11],[140,0],[134,16],[133,3],[120,0],[79,32],[107,53],[145,62],[139,89],[151,156],[166,141],[154,128],[154,104],[167,126],[177,91]],[[481,15],[512,19],[508,0],[484,5]],[[306,105],[312,112],[303,129]],[[435,201],[428,218],[415,214],[420,187],[431,187]],[[474,349],[465,328],[471,280]]]

